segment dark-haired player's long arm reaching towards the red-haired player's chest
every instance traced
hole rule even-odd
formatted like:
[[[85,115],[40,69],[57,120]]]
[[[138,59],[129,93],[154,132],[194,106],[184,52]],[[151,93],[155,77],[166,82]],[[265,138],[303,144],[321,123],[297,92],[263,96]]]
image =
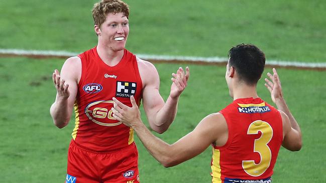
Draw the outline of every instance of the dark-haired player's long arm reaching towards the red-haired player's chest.
[[[133,107],[122,104],[116,98],[113,100],[115,101],[112,108],[114,117],[125,125],[131,126],[147,150],[165,167],[177,165],[198,155],[214,143],[219,135],[228,133],[226,122],[221,122],[222,115],[211,114],[202,119],[192,132],[170,145],[154,136],[143,124],[133,97],[131,97]]]

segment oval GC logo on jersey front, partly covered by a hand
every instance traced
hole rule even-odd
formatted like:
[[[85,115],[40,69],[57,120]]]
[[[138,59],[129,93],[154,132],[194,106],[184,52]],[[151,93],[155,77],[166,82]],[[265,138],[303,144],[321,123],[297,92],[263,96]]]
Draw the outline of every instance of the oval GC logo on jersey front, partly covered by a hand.
[[[88,104],[85,108],[85,114],[89,120],[102,126],[117,126],[122,122],[113,117],[114,101],[100,100]]]

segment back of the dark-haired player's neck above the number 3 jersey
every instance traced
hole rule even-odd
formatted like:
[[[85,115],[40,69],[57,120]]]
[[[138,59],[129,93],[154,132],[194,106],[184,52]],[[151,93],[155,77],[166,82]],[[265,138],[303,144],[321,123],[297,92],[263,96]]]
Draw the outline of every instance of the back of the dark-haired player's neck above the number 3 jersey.
[[[256,85],[248,86],[248,85],[238,85],[233,90],[233,100],[237,100],[239,98],[258,98]]]

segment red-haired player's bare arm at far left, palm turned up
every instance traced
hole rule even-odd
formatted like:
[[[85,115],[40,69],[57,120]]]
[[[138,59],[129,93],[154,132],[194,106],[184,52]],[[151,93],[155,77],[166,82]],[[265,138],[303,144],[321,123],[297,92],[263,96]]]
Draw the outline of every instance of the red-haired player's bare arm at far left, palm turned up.
[[[61,75],[55,70],[52,77],[57,95],[51,105],[50,114],[53,123],[58,128],[65,127],[70,120],[73,104],[77,95],[77,82],[80,78],[81,62],[78,57],[66,60],[61,69]]]

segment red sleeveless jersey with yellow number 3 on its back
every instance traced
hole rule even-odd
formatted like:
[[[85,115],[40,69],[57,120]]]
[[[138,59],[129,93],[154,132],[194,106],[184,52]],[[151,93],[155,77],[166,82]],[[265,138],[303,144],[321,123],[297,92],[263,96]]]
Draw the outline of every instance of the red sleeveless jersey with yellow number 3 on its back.
[[[212,182],[270,177],[283,140],[279,111],[260,98],[242,98],[220,113],[229,137],[222,147],[212,145]]]

